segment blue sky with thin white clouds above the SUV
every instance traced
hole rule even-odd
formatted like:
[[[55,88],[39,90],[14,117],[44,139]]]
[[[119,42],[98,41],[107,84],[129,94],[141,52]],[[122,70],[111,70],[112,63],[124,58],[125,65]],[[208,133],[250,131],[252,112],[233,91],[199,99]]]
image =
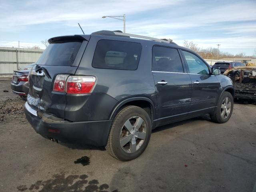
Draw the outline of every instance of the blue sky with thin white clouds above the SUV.
[[[184,40],[200,48],[252,55],[256,50],[256,0],[0,0],[0,46],[37,45],[54,36],[98,30]]]

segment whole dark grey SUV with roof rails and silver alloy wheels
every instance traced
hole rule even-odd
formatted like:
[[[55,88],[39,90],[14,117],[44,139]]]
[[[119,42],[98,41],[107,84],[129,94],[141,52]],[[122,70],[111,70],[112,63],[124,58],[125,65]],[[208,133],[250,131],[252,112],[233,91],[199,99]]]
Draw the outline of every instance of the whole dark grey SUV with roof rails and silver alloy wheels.
[[[224,123],[232,114],[230,78],[174,42],[112,31],[48,42],[30,72],[25,113],[52,141],[105,146],[127,161],[158,126],[205,114]]]

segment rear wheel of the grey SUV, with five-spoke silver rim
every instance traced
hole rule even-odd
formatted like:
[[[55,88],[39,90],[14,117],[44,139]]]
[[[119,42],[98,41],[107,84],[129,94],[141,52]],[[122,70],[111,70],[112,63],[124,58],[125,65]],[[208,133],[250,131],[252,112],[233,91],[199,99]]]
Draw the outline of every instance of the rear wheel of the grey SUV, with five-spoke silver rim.
[[[112,157],[129,161],[144,152],[150,135],[148,113],[137,106],[126,106],[115,116],[105,148]]]

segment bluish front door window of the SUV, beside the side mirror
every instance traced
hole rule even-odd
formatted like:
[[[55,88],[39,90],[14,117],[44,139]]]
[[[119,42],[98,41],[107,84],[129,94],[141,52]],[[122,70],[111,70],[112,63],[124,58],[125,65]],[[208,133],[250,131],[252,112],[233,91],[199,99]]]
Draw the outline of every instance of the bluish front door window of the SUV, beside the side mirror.
[[[210,74],[208,66],[195,54],[182,50],[192,74]]]

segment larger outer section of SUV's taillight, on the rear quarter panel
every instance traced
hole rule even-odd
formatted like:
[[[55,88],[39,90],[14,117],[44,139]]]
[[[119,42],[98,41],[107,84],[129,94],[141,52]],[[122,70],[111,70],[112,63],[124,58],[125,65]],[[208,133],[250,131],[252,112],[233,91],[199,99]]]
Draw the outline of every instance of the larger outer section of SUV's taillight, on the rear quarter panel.
[[[84,94],[90,93],[96,78],[93,76],[69,76],[67,80],[66,93]]]

